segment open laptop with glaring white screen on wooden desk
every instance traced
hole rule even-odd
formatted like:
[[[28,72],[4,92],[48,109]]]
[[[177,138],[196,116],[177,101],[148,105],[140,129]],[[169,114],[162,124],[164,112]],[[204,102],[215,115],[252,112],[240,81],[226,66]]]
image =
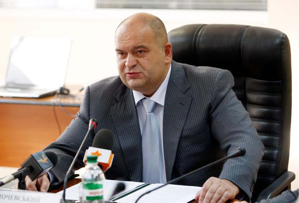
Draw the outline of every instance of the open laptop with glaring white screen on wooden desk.
[[[68,37],[12,36],[0,96],[39,98],[55,94],[64,86],[71,42]]]

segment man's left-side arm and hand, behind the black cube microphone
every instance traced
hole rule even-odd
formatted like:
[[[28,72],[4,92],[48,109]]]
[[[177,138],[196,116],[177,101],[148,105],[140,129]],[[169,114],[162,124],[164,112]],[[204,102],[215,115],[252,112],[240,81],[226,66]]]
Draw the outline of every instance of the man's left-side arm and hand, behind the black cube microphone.
[[[87,87],[80,106],[80,111],[77,113],[76,118],[71,121],[69,126],[55,142],[51,143],[44,149],[45,152],[54,152],[58,157],[56,166],[51,169],[51,172],[53,172],[55,178],[55,181],[52,182],[52,184],[58,185],[64,181],[66,172],[69,169],[69,166],[71,165],[74,156],[77,153],[77,150],[88,131],[89,119],[89,87]],[[82,161],[84,153],[88,146],[92,145],[93,138],[94,132],[92,131],[88,135],[85,144],[78,156],[77,162],[75,163],[73,168],[73,173],[75,169],[77,170],[81,167],[84,167]],[[70,174],[70,176],[71,175],[73,174]],[[42,176],[36,181],[31,181],[30,178],[27,178],[25,181],[27,189],[34,191],[39,190],[40,186],[44,186],[43,189],[47,191],[50,185],[48,174]]]

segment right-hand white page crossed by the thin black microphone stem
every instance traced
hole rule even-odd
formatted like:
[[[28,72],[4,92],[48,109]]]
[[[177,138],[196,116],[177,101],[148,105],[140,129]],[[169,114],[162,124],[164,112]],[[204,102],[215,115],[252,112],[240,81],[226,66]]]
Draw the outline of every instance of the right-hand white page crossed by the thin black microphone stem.
[[[128,196],[116,200],[116,202],[135,202],[143,193],[161,185],[163,184],[150,184]],[[201,188],[196,186],[167,185],[141,197],[140,202],[189,202],[194,199],[196,192]]]

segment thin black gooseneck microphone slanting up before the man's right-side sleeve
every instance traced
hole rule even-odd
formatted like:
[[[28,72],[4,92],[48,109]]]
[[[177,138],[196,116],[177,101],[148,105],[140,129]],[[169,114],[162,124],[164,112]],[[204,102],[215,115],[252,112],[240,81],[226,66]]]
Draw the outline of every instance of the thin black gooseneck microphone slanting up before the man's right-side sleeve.
[[[221,158],[221,159],[219,159],[219,160],[217,160],[217,161],[215,161],[215,162],[209,163],[209,164],[207,164],[206,166],[197,168],[197,169],[195,169],[194,171],[191,171],[191,172],[189,172],[189,173],[186,173],[186,174],[183,175],[183,176],[180,176],[180,177],[177,177],[177,178],[175,178],[175,179],[173,179],[173,180],[171,180],[171,181],[168,181],[168,182],[165,183],[164,185],[158,186],[158,187],[156,187],[156,188],[154,188],[154,189],[152,189],[152,190],[150,190],[150,191],[147,191],[147,192],[143,193],[142,195],[140,195],[140,196],[138,197],[138,199],[135,201],[135,203],[137,203],[137,201],[138,201],[142,196],[144,196],[144,195],[146,195],[146,194],[149,194],[149,193],[152,192],[152,191],[155,191],[155,190],[157,190],[157,189],[159,189],[159,188],[161,188],[161,187],[164,187],[164,186],[166,186],[166,185],[168,185],[168,184],[171,184],[171,183],[174,183],[174,182],[176,182],[176,181],[183,180],[184,178],[186,178],[187,176],[192,175],[193,173],[196,173],[196,172],[201,171],[201,170],[203,170],[203,169],[206,169],[206,168],[208,168],[208,167],[214,166],[214,165],[216,165],[216,164],[218,164],[218,163],[221,163],[221,162],[225,161],[226,159],[230,159],[230,158],[234,158],[234,157],[241,157],[241,156],[244,156],[245,153],[246,153],[246,149],[245,149],[244,147],[239,147],[237,150],[235,150],[234,153],[232,153],[232,154],[230,154],[230,155],[228,155],[228,156],[226,156],[226,157],[223,157],[223,158]]]

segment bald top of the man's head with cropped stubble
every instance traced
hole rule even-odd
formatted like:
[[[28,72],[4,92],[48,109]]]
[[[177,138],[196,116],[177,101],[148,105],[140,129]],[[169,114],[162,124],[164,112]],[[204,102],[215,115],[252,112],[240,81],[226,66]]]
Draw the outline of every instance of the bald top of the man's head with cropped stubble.
[[[168,36],[164,23],[160,18],[149,13],[136,13],[130,17],[127,17],[116,28],[116,32],[118,31],[118,29],[136,25],[140,25],[140,27],[150,27],[150,29],[154,33],[154,39],[156,40],[160,48],[162,48],[163,45],[168,42]]]

